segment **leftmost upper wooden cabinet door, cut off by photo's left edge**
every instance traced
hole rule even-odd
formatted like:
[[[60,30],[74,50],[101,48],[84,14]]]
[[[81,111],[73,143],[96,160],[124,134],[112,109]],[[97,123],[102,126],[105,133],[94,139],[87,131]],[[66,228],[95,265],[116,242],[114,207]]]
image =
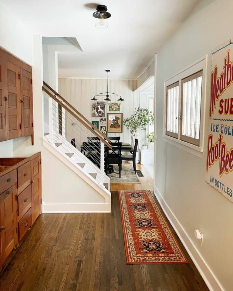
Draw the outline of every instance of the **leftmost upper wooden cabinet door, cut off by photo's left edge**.
[[[6,140],[6,105],[5,105],[5,82],[6,62],[0,57],[0,142]]]

